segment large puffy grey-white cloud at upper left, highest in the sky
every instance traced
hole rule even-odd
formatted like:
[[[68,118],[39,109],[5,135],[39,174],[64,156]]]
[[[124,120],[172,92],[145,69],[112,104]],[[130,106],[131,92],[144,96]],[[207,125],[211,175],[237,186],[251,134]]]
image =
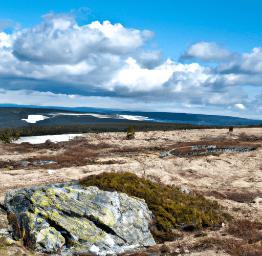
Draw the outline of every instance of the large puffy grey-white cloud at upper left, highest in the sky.
[[[122,55],[133,52],[152,39],[152,31],[123,28],[108,20],[79,27],[73,16],[43,15],[44,22],[32,29],[24,29],[15,40],[13,54],[22,61],[41,63],[78,63],[99,59],[110,53]]]

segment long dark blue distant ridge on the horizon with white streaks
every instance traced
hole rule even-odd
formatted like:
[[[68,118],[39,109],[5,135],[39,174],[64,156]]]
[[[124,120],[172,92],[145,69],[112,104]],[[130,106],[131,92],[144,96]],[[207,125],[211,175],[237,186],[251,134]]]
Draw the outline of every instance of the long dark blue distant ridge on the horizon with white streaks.
[[[58,115],[63,113],[63,115]],[[80,115],[84,113],[92,115]],[[56,114],[56,115],[54,115]],[[69,115],[75,114],[75,115]],[[79,115],[77,115],[79,114]],[[50,118],[29,124],[21,119],[27,119],[28,115],[45,115]],[[101,118],[107,117],[107,118]],[[144,117],[144,119],[142,118]],[[141,119],[141,120],[140,120]],[[203,114],[187,113],[167,113],[167,112],[142,112],[142,111],[124,111],[119,109],[99,109],[99,108],[67,108],[56,106],[34,106],[34,105],[7,105],[0,104],[0,128],[6,126],[28,126],[28,125],[46,125],[46,124],[91,124],[91,123],[119,123],[119,122],[169,122],[169,123],[190,123],[201,125],[259,125],[262,120],[253,120],[247,118],[216,116]]]

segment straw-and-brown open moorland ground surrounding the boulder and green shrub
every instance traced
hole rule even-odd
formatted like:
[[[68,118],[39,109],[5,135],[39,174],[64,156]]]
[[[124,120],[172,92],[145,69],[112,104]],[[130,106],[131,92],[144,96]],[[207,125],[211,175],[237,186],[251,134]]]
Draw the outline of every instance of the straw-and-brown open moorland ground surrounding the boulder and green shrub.
[[[190,153],[194,145],[257,149],[159,157],[166,150]],[[179,231],[180,239],[158,244],[145,253],[262,255],[261,146],[262,128],[259,127],[234,128],[232,133],[228,129],[136,132],[132,140],[126,140],[126,133],[101,133],[51,144],[0,144],[0,204],[7,191],[14,188],[79,180],[102,172],[128,171],[216,200],[227,207],[227,213],[234,218],[229,218],[226,226],[219,230]],[[23,163],[25,161],[30,163]],[[34,161],[57,163],[40,165]],[[7,227],[3,210],[0,211],[1,226]],[[24,249],[17,248],[21,252],[17,255],[23,255]],[[25,249],[23,253],[31,252]]]

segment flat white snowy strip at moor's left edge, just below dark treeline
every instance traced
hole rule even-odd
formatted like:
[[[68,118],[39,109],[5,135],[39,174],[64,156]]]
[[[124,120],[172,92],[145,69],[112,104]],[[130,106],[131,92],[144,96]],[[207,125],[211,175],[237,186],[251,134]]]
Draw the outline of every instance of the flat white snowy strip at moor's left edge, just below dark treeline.
[[[77,134],[60,134],[60,135],[43,135],[43,136],[30,136],[30,137],[20,137],[20,139],[13,141],[13,143],[30,142],[32,144],[44,143],[46,140],[50,139],[53,142],[67,141],[71,140],[76,136],[82,136],[83,133]]]

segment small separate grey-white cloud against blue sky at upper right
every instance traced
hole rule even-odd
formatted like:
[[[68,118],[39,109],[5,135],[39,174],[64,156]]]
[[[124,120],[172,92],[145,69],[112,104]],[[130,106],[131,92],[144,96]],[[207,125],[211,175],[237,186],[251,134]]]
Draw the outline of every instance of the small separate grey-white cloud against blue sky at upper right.
[[[233,53],[220,47],[217,42],[199,41],[188,47],[185,52],[182,52],[179,59],[200,59],[203,62],[220,62],[227,61],[232,55]]]

